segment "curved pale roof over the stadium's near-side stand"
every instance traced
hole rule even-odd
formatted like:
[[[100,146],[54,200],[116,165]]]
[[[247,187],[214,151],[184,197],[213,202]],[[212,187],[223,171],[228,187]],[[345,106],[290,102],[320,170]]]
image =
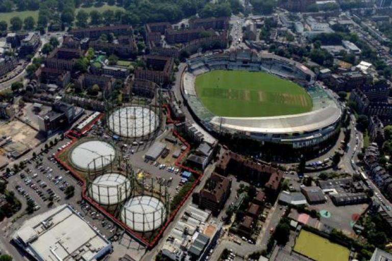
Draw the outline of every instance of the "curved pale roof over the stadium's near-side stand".
[[[326,107],[316,111],[274,116],[274,117],[213,117],[211,124],[253,133],[284,134],[293,132],[314,131],[334,124],[341,111],[336,107]]]

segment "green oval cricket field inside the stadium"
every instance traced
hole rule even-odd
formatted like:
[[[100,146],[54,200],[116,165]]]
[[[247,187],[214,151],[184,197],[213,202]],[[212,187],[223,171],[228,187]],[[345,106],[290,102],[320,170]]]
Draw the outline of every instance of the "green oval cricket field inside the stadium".
[[[268,117],[312,110],[299,85],[265,72],[213,70],[196,77],[196,93],[208,110],[224,117]]]

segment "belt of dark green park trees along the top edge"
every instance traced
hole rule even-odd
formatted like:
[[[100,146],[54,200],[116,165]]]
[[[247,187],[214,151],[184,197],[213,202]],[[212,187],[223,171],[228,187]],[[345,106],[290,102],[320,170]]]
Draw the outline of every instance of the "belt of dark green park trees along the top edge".
[[[3,11],[14,10],[12,1],[4,0],[10,2],[11,8],[3,9]],[[23,5],[22,2],[19,3],[17,10],[32,10],[30,7],[30,2],[28,5]],[[35,0],[29,0],[35,1]],[[256,0],[262,3],[261,6],[265,6],[263,1]],[[4,3],[4,2],[3,2]],[[54,21],[58,23],[71,24],[74,23],[77,27],[87,27],[88,25],[99,25],[99,24],[110,24],[113,22],[120,22],[123,24],[142,24],[146,22],[157,22],[157,21],[178,21],[185,17],[190,17],[195,14],[199,14],[201,17],[209,16],[230,16],[232,13],[239,13],[242,11],[242,6],[238,0],[223,0],[216,4],[210,3],[208,0],[176,0],[174,2],[168,1],[131,1],[131,0],[118,0],[117,2],[109,0],[107,2],[109,5],[117,4],[118,6],[124,7],[125,10],[106,10],[99,12],[97,10],[92,10],[87,12],[86,10],[79,10],[76,12],[76,8],[83,6],[91,6],[89,2],[81,2],[80,0],[74,1],[61,1],[61,0],[44,0],[41,3],[35,3],[34,10],[39,7],[38,19],[35,21],[33,17],[29,16],[23,21],[20,17],[15,16],[11,20],[11,29],[13,31],[18,31],[23,28],[30,30],[38,26],[38,28],[45,28],[48,22]],[[268,10],[273,10],[271,3],[275,3],[269,0],[267,3]],[[98,2],[97,6],[102,6],[104,3]],[[264,9],[262,9],[264,10]],[[1,6],[0,6],[1,11]],[[261,11],[261,10],[260,10]],[[265,11],[263,11],[265,12]],[[269,12],[269,11],[268,11]],[[6,31],[6,24],[0,24],[0,31]]]

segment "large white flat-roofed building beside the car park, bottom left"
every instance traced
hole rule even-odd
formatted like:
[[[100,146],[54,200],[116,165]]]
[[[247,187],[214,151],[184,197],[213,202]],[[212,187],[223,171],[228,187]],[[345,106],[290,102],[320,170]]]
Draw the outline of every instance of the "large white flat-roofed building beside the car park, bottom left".
[[[110,241],[69,205],[27,220],[13,234],[13,241],[40,261],[96,260],[112,249]]]

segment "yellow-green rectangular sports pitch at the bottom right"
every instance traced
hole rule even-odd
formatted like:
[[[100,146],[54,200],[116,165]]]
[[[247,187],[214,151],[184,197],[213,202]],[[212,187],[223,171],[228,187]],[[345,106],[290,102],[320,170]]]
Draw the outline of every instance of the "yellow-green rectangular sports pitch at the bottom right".
[[[350,251],[306,230],[301,230],[294,250],[316,261],[347,261]]]

